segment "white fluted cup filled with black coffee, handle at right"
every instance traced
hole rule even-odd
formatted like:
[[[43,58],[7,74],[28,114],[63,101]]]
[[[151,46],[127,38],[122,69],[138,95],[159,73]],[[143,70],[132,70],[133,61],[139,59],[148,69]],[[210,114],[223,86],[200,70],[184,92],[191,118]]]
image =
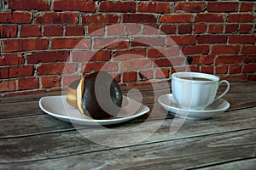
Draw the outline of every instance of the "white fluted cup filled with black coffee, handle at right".
[[[226,83],[223,94],[216,98],[218,87]],[[219,77],[199,72],[176,72],[172,74],[172,94],[179,107],[189,110],[204,110],[207,105],[220,99],[230,89],[230,82]]]

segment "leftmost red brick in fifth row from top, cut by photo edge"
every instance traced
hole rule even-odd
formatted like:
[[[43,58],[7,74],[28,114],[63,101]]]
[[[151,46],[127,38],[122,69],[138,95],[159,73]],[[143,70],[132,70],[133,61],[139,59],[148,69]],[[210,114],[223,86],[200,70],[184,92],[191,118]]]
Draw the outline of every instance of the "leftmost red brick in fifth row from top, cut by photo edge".
[[[21,54],[0,55],[0,65],[22,65],[24,59]]]

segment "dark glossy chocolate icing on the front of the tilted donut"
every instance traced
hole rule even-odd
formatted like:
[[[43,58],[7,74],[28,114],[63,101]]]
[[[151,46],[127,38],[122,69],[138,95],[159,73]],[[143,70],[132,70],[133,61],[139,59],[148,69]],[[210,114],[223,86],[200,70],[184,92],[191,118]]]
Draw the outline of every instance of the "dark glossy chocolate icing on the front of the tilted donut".
[[[85,115],[94,119],[106,119],[119,113],[122,92],[118,83],[107,72],[95,72],[85,77],[83,93],[82,109]]]

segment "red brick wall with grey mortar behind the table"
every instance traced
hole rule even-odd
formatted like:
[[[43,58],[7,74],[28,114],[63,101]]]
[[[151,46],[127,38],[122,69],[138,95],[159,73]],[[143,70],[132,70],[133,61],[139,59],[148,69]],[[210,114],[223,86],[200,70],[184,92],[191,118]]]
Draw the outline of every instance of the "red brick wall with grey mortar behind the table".
[[[1,96],[61,90],[101,69],[121,86],[188,69],[256,80],[255,2],[1,0],[0,7]]]

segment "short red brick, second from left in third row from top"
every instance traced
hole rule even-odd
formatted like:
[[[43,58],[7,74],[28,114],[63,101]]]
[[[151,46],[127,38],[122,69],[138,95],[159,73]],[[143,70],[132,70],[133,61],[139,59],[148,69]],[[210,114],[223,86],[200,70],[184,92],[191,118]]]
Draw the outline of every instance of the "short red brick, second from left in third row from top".
[[[40,26],[22,26],[20,37],[41,37],[41,28]]]

